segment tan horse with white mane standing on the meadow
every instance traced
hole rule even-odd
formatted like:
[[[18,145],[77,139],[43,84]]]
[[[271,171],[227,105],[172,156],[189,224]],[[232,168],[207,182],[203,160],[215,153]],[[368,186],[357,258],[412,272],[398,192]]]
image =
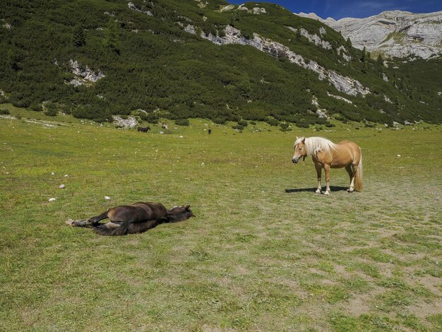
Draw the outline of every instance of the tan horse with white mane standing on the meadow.
[[[342,141],[338,144],[322,137],[301,137],[294,142],[294,155],[292,162],[297,164],[299,158],[311,155],[311,159],[318,173],[318,189],[316,194],[321,194],[321,172],[325,170],[327,187],[325,195],[330,194],[330,168],[345,167],[350,175],[350,188],[348,192],[362,191],[362,153],[361,148],[351,141]]]

